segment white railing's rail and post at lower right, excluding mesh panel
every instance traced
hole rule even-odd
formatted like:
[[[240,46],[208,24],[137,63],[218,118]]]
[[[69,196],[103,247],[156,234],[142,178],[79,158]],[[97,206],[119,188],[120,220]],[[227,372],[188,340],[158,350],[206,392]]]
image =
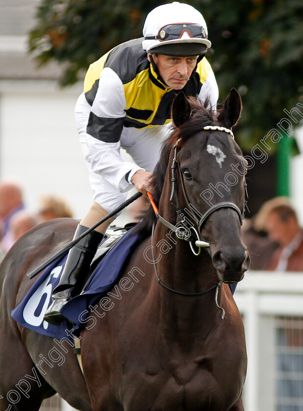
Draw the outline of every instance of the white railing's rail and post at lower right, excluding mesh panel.
[[[243,316],[248,354],[245,411],[276,411],[277,319],[303,319],[303,273],[250,271],[234,299]],[[303,341],[300,345],[302,350]]]

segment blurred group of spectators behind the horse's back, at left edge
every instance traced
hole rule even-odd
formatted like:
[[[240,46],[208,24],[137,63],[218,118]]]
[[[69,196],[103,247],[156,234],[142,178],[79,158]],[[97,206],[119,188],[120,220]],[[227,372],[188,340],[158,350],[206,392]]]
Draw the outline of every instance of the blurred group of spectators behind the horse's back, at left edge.
[[[59,217],[72,217],[65,199],[54,194],[40,197],[35,212],[24,204],[20,184],[0,181],[0,260],[26,231],[40,223]]]

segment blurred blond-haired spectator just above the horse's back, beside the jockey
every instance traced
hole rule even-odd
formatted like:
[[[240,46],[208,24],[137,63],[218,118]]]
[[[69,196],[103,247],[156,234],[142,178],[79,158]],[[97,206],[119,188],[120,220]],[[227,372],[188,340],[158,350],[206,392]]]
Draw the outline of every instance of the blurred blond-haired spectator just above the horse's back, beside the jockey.
[[[66,201],[58,196],[48,194],[40,199],[40,210],[38,212],[40,221],[48,221],[59,217],[72,217],[72,212]]]

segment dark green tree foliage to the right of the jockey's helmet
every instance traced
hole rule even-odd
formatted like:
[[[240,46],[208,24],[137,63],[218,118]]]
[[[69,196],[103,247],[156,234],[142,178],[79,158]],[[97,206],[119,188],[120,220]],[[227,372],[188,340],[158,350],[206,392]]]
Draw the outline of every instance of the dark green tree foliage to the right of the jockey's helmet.
[[[285,117],[283,109],[303,101],[303,2],[195,4],[207,11],[214,50],[211,64],[220,96],[227,95],[231,87],[242,96],[239,132],[242,147],[248,149]]]

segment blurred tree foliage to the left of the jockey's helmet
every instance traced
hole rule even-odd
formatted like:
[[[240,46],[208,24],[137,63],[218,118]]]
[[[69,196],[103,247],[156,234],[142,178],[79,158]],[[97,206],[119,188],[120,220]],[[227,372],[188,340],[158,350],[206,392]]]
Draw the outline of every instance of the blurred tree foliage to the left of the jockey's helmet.
[[[139,0],[43,0],[29,33],[29,49],[40,65],[51,59],[65,63],[60,84],[73,84],[81,69],[111,48],[141,37],[151,8]]]

